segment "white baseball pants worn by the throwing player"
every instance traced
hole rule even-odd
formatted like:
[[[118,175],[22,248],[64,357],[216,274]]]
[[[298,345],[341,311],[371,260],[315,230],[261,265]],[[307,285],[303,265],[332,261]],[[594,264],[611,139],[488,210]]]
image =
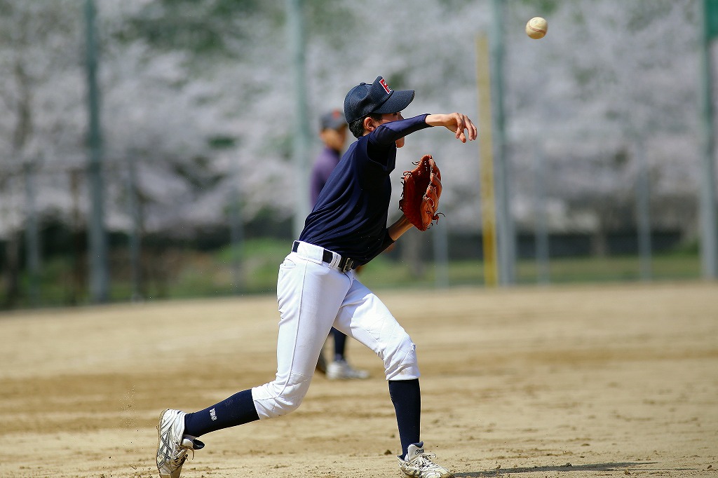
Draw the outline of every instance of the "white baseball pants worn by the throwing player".
[[[324,249],[299,243],[279,267],[279,339],[276,378],[252,388],[259,418],[286,415],[307,394],[322,346],[332,327],[373,350],[386,380],[419,378],[416,345],[386,306],[353,271],[322,261]]]

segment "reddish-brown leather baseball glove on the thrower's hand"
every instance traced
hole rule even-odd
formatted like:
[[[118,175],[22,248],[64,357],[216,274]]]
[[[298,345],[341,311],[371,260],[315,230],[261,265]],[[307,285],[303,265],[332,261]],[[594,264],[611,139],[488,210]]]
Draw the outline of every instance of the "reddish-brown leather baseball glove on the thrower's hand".
[[[442,174],[430,154],[424,154],[416,167],[401,179],[399,209],[416,229],[426,230],[439,220],[437,209],[442,195]]]

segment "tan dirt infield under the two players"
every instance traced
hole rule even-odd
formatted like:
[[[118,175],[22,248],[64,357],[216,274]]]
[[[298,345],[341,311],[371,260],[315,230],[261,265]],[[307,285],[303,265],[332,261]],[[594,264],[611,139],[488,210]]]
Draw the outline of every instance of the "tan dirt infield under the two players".
[[[379,294],[418,346],[422,438],[457,477],[718,477],[718,284]],[[276,300],[0,314],[0,477],[156,477],[157,416],[259,385]],[[381,362],[209,434],[183,478],[398,477]]]

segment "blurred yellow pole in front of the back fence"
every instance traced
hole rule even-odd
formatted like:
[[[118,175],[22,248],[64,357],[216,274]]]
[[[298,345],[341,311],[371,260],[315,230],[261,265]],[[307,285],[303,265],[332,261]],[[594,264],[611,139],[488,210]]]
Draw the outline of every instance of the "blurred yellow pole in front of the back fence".
[[[493,144],[491,143],[491,79],[489,42],[486,34],[476,37],[476,84],[479,101],[479,155],[481,183],[481,222],[484,250],[484,282],[496,286],[496,208],[493,181]]]

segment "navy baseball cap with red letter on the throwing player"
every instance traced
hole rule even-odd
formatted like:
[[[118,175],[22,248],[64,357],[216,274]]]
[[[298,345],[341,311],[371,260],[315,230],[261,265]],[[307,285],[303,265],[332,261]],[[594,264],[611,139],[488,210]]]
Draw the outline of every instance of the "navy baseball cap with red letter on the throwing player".
[[[344,117],[347,123],[368,116],[370,113],[398,113],[414,100],[414,90],[394,91],[381,76],[374,83],[360,83],[349,90],[344,98]]]

